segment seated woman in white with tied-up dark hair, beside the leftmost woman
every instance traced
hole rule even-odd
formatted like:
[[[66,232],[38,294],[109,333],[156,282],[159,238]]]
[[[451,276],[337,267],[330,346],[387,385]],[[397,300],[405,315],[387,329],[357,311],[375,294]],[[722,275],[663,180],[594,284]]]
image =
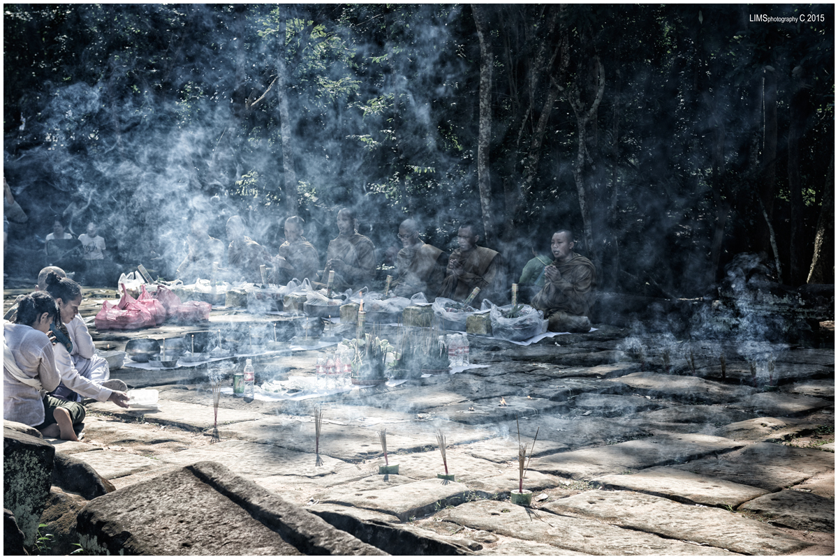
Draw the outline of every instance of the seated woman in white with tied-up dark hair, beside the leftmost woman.
[[[53,395],[71,402],[79,401],[81,397],[90,397],[97,402],[109,401],[127,408],[128,396],[122,392],[125,383],[108,381],[111,372],[107,362],[96,355],[93,339],[79,315],[80,285],[50,272],[47,275],[47,293],[53,296],[59,308],[59,320],[56,322],[63,322],[69,334],[69,337],[63,335],[57,326],[52,328],[59,341],[54,353],[55,367],[61,375],[61,384]],[[114,384],[117,382],[122,390],[116,390]]]

